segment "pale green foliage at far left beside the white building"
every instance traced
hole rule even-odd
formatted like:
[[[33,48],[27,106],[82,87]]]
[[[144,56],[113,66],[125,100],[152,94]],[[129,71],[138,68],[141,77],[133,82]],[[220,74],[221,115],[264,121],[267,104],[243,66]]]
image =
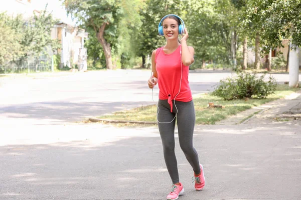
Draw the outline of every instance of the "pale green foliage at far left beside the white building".
[[[21,14],[11,17],[0,13],[0,64],[8,64],[17,58],[25,60],[47,55],[49,47],[53,51],[59,48],[59,41],[51,38],[54,24],[46,9],[40,15],[26,19]]]

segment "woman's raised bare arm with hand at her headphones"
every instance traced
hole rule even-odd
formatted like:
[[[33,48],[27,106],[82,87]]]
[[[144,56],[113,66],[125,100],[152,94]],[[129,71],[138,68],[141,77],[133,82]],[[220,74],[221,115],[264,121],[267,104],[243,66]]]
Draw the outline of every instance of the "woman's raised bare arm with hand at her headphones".
[[[185,28],[185,35],[181,39],[182,62],[185,66],[189,66],[194,62],[194,48],[187,46],[188,31]]]

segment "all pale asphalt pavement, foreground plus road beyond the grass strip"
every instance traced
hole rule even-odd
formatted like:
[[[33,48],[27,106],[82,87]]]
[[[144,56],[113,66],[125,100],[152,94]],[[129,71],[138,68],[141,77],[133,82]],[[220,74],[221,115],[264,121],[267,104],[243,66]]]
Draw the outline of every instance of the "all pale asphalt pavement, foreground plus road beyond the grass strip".
[[[80,122],[85,116],[152,103],[144,85],[149,71],[86,74],[13,85],[6,80],[0,88],[0,199],[165,199],[171,181],[156,126]],[[190,77],[206,92],[229,74]],[[127,89],[128,95],[121,92]],[[116,106],[110,107],[112,102]],[[203,191],[194,190],[193,172],[176,134],[185,187],[179,199],[300,199],[300,129],[289,122],[197,126],[194,144],[207,181]]]

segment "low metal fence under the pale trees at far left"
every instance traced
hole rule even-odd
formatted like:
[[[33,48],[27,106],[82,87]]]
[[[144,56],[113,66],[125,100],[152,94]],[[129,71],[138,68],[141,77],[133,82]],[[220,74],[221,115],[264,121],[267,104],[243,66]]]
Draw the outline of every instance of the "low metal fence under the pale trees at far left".
[[[51,58],[17,60],[7,66],[0,66],[0,73],[36,73],[53,71]]]

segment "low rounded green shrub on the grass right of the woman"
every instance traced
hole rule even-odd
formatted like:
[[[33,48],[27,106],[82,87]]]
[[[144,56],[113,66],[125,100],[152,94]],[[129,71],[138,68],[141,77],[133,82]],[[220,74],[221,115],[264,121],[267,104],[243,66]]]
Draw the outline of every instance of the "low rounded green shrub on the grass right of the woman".
[[[271,75],[268,81],[264,81],[266,73],[257,76],[255,73],[237,72],[235,77],[227,77],[220,80],[213,95],[220,96],[225,100],[248,98],[266,98],[274,93],[276,80]]]

